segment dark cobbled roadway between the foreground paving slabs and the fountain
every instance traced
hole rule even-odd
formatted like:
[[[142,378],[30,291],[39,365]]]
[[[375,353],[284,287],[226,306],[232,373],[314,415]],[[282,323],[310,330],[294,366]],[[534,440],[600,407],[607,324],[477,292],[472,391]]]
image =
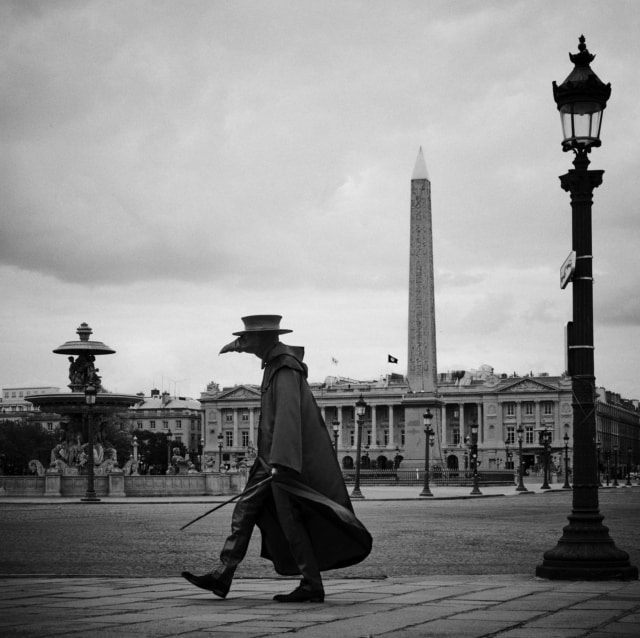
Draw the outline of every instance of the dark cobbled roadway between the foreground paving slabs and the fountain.
[[[533,574],[554,547],[571,511],[571,493],[515,494],[504,488],[468,496],[434,489],[435,499],[416,498],[416,488],[363,488],[356,512],[371,531],[371,556],[339,578],[438,574]],[[493,490],[493,493],[491,492]],[[183,501],[185,499],[182,499]],[[221,499],[218,499],[221,500]],[[600,511],[616,545],[640,564],[640,487],[604,489]],[[229,531],[226,507],[184,531],[180,527],[215,505],[127,500],[97,504],[0,500],[0,575],[176,577],[183,569],[210,568]],[[259,556],[259,534],[238,572],[271,578],[271,563]]]

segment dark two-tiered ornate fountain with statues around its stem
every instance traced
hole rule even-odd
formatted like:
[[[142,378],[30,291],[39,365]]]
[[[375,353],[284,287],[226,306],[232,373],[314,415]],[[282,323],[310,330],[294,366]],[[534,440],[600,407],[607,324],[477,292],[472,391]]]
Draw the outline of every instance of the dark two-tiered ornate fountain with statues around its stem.
[[[66,419],[62,425],[62,439],[51,450],[47,475],[86,475],[85,502],[99,501],[95,490],[95,476],[123,474],[118,466],[115,448],[105,439],[102,423],[118,412],[126,411],[139,402],[135,395],[113,394],[102,386],[96,368],[96,357],[114,354],[101,341],[91,341],[91,328],[82,323],[77,330],[79,339],[67,341],[53,352],[69,360],[71,392],[39,394],[29,402],[43,412],[53,412]],[[94,424],[98,424],[97,431]],[[35,463],[35,462],[34,462]],[[59,485],[59,482],[58,482]]]

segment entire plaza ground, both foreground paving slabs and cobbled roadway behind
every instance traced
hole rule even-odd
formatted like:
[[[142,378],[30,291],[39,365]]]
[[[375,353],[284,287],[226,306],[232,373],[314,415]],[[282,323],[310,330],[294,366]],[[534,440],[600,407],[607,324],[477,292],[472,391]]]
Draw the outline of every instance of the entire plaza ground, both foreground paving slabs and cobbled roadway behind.
[[[179,577],[204,571],[229,508],[180,532],[216,499],[193,502],[0,501],[0,635],[296,638],[618,637],[640,633],[640,584],[534,576],[570,513],[571,493],[511,487],[363,487],[358,516],[374,537],[361,566],[328,572],[324,604],[283,605],[295,580],[252,541],[225,600]],[[640,487],[603,489],[616,545],[640,562]],[[222,500],[222,499],[217,499]]]

